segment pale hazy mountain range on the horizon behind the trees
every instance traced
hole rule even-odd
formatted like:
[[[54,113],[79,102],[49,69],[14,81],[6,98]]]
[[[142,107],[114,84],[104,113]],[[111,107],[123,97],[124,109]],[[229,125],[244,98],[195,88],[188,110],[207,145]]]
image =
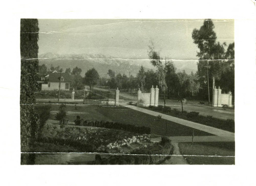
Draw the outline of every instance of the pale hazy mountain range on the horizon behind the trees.
[[[41,54],[38,56],[39,65],[45,64],[48,68],[53,66],[60,66],[64,71],[66,68],[72,69],[77,66],[82,69],[81,75],[83,76],[89,69],[95,68],[101,77],[107,76],[109,69],[121,74],[136,76],[139,72],[141,65],[147,69],[155,69],[155,67],[150,63],[149,59],[119,59],[113,56],[104,56],[101,54],[91,55],[91,54],[66,54],[58,55],[53,53]],[[174,61],[175,66],[178,71],[183,69],[190,73],[191,71],[197,71],[197,65],[195,61]]]

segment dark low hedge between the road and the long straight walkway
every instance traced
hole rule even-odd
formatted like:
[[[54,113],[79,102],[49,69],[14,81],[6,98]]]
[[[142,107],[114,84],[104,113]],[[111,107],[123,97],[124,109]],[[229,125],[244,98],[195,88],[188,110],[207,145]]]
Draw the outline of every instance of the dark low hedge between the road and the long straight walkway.
[[[211,126],[211,127],[216,127],[220,128],[222,130],[227,130],[230,132],[234,132],[234,120],[232,119],[227,119],[227,120],[222,120],[218,118],[213,118],[211,115],[207,115],[206,117],[204,115],[199,115],[199,112],[187,112],[187,111],[179,111],[176,108],[171,109],[168,106],[162,106],[159,105],[157,107],[154,106],[149,106],[148,109],[158,111],[161,113],[165,113],[168,115],[172,115],[173,117],[181,118],[184,120],[188,120],[191,122],[196,122],[200,123],[203,125]]]

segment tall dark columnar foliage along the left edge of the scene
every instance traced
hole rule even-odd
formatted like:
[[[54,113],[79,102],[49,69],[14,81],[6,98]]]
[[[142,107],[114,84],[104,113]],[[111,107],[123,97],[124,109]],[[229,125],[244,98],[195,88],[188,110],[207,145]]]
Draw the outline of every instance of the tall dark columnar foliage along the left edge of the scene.
[[[39,127],[35,112],[35,91],[38,79],[38,20],[20,20],[20,148],[22,152],[30,151]],[[25,158],[24,158],[25,157]],[[22,156],[22,164],[33,164],[31,156]]]

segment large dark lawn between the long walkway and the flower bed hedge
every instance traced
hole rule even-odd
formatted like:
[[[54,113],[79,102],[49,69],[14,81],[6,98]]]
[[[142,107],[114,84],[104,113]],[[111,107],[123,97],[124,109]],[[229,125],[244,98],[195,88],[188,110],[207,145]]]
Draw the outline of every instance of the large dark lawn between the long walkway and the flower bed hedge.
[[[113,121],[122,124],[135,126],[145,126],[151,128],[152,134],[166,136],[185,136],[192,135],[193,128],[185,127],[180,124],[170,122],[164,119],[157,119],[152,115],[138,112],[126,107],[106,107],[96,105],[66,105],[69,121],[74,121],[79,115],[81,119],[90,121]],[[52,104],[52,114],[50,119],[55,119],[55,114],[59,109],[58,104]],[[211,135],[209,133],[194,130],[194,135]]]

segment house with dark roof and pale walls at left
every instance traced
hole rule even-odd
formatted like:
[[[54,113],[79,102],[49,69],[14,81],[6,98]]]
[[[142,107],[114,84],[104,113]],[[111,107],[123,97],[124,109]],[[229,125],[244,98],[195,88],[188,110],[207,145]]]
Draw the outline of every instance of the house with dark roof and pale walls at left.
[[[60,79],[60,89],[69,90],[71,76],[66,73],[51,73],[49,74],[48,83],[41,85],[41,90],[58,90],[59,89],[59,79]]]

